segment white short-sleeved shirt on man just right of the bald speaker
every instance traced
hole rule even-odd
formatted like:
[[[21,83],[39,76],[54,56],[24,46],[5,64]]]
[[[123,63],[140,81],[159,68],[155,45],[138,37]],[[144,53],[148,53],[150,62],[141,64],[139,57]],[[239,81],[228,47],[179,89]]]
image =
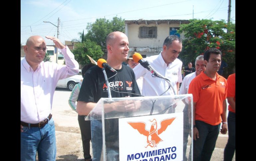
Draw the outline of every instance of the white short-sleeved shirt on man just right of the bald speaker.
[[[147,60],[158,73],[171,81],[175,93],[177,94],[177,82],[182,82],[182,61],[175,59],[167,66],[162,57],[162,52],[159,55],[153,55],[145,58],[144,60]],[[169,84],[164,79],[155,77],[141,64],[138,64],[136,67],[134,67],[133,71],[135,73],[136,79],[143,76],[143,86],[141,93],[143,96],[160,96],[169,88]],[[171,87],[165,94],[163,94],[163,96],[165,95],[174,95]]]

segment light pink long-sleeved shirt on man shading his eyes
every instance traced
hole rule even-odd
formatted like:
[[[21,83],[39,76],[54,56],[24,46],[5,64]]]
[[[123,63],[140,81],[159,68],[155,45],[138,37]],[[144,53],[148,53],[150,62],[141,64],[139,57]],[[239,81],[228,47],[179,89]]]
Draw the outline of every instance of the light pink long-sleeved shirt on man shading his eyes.
[[[38,123],[45,120],[52,110],[58,80],[79,72],[79,64],[69,48],[66,46],[61,51],[66,65],[41,62],[33,71],[26,57],[21,60],[21,121]]]

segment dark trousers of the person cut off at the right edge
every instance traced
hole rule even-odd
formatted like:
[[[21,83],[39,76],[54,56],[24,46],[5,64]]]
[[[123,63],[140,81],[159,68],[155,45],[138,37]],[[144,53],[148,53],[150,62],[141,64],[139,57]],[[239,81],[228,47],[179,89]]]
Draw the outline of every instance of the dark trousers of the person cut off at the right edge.
[[[227,117],[228,140],[224,149],[224,161],[231,161],[236,149],[236,114],[228,112]]]

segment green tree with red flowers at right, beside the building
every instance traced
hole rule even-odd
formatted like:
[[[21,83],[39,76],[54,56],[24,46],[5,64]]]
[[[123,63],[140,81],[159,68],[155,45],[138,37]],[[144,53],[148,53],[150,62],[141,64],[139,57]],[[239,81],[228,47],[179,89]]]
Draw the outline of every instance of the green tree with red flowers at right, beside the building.
[[[228,30],[228,33],[227,33]],[[228,64],[224,77],[232,73],[235,67],[235,24],[225,20],[190,20],[189,24],[182,24],[178,33],[183,33],[180,58],[184,64],[189,61],[194,64],[195,58],[205,50],[215,47],[222,52],[222,61]]]

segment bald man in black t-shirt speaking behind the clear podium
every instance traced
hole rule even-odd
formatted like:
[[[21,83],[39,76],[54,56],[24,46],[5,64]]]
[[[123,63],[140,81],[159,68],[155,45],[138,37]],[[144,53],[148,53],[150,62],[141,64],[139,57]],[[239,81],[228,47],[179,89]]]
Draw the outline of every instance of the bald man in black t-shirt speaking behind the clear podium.
[[[129,41],[127,36],[121,32],[112,32],[107,36],[107,63],[113,67],[117,74],[106,69],[107,77],[110,78],[109,86],[111,88],[112,97],[135,97],[140,91],[136,83],[135,74],[133,70],[122,64],[126,61],[129,52]],[[91,67],[84,75],[84,79],[81,85],[80,93],[77,99],[77,112],[79,115],[88,115],[90,111],[95,107],[100,98],[108,98],[108,91],[103,72],[100,67]],[[128,93],[117,93],[128,92]],[[139,105],[133,101],[128,101],[126,104],[122,102],[113,102],[111,104],[104,104],[104,112],[115,114],[120,111],[132,112],[138,109]],[[92,143],[93,148],[93,160],[99,161],[102,148],[102,131],[101,120],[94,121],[94,127],[91,127],[92,140],[93,137],[98,139],[97,143]],[[105,137],[106,137],[106,150],[107,160],[119,160],[119,138],[118,138],[118,119],[106,119],[105,125]],[[110,129],[111,127],[111,129]]]

